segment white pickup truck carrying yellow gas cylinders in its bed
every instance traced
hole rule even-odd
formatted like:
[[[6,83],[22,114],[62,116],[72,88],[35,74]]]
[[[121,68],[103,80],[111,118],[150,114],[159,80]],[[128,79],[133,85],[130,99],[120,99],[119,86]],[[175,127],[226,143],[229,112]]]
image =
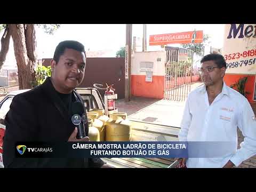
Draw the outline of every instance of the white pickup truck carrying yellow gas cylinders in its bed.
[[[0,167],[3,165],[3,137],[5,132],[4,118],[10,109],[12,99],[15,95],[28,90],[10,92],[0,102]],[[105,109],[104,102],[97,89],[77,88],[76,91],[82,96],[87,111],[90,109]],[[125,112],[125,111],[123,111]],[[127,117],[129,119],[129,117]],[[147,122],[132,122],[132,141],[178,141],[179,128],[171,126],[156,125]],[[102,158],[114,167],[126,168],[167,168],[174,159],[164,158]]]

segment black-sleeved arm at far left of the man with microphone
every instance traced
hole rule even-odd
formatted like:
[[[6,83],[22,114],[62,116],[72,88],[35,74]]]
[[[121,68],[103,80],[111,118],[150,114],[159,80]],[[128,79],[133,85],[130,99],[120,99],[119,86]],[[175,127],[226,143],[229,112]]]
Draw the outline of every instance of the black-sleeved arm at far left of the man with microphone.
[[[37,158],[15,158],[15,142],[36,140],[35,112],[24,97],[16,96],[5,117],[3,162],[5,167],[37,167]],[[25,152],[26,153],[26,152]]]

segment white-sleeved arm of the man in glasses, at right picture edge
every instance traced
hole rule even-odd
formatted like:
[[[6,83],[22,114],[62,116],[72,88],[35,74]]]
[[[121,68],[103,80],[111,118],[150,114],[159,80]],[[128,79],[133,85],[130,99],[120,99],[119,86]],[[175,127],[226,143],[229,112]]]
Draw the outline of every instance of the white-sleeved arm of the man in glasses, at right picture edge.
[[[247,99],[244,101],[238,117],[238,127],[242,131],[244,141],[241,148],[230,158],[236,166],[256,154],[256,120],[252,107]]]

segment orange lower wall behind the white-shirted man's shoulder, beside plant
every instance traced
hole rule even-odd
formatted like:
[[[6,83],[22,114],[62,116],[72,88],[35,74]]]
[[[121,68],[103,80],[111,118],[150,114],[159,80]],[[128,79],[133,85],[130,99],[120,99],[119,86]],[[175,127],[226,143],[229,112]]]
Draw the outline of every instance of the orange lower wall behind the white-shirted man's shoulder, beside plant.
[[[232,75],[232,74],[226,74],[223,78],[227,86],[230,86],[231,84],[234,84],[236,81],[239,80],[241,77],[248,77],[247,83],[245,85],[245,91],[250,92],[250,94],[247,94],[247,99],[249,102],[253,102],[253,91],[254,91],[254,82],[255,82],[255,76],[251,75]]]

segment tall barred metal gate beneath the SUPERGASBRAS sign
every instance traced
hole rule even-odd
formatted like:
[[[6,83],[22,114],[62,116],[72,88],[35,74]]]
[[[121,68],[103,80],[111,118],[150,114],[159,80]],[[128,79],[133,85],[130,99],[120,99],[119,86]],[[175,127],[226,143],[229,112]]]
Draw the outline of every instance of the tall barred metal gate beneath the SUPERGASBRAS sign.
[[[179,47],[165,47],[165,51],[164,99],[185,101],[190,92],[194,52]]]

